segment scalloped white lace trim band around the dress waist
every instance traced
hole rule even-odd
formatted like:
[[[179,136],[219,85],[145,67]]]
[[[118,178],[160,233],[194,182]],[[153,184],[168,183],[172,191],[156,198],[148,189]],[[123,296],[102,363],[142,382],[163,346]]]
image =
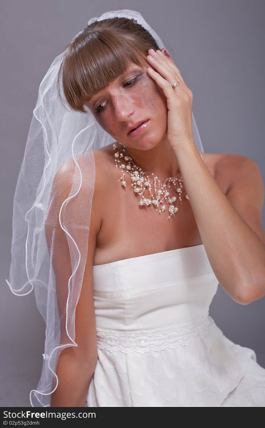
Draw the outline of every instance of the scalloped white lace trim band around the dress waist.
[[[199,340],[214,323],[210,315],[196,324],[182,324],[164,330],[153,331],[97,331],[97,347],[110,352],[141,352],[162,351],[165,348],[176,348],[179,345],[189,345]]]

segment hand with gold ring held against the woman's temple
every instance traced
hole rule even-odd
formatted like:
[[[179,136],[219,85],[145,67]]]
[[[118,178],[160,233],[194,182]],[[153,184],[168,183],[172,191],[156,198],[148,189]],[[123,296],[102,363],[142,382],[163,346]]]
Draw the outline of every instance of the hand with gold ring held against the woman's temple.
[[[169,109],[167,137],[172,147],[175,147],[179,146],[183,140],[194,141],[192,128],[193,92],[187,87],[181,72],[167,54],[166,49],[163,48],[163,51],[164,53],[160,50],[155,52],[154,49],[149,49],[149,55],[146,58],[152,68],[148,68],[147,73],[160,86],[166,96]],[[180,84],[173,89],[172,85],[178,80]]]

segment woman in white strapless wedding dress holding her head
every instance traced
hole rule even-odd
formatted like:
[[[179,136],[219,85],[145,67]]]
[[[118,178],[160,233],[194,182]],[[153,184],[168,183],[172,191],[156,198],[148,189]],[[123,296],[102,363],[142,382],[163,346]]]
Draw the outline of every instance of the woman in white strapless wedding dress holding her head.
[[[45,238],[58,313],[47,314],[60,322],[46,336],[60,330],[60,352],[53,339],[53,384],[36,392],[54,407],[264,406],[255,352],[208,315],[218,283],[239,304],[265,294],[261,174],[249,158],[200,154],[192,91],[138,22],[93,21],[60,65],[68,105],[87,107],[114,143],[93,150],[94,186],[81,149],[52,182]]]

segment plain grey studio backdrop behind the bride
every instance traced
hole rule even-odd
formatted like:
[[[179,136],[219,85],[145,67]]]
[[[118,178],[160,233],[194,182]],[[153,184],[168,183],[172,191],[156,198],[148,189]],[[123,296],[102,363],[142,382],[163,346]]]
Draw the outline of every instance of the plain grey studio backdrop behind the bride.
[[[30,406],[42,368],[45,325],[31,293],[17,297],[8,278],[12,203],[39,83],[91,17],[139,11],[159,34],[193,91],[205,152],[252,158],[265,180],[264,1],[45,0],[1,2],[0,405]],[[263,208],[263,224],[265,209]],[[226,337],[256,351],[265,367],[265,299],[235,303],[219,285],[210,315]]]

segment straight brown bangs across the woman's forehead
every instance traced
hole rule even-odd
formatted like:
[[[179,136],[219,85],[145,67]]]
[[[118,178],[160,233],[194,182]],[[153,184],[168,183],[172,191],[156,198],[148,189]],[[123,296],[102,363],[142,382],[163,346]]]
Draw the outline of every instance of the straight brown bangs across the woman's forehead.
[[[86,113],[83,106],[93,95],[123,74],[130,62],[142,66],[145,55],[148,49],[143,52],[128,35],[105,30],[81,36],[69,46],[58,74],[69,106]]]

